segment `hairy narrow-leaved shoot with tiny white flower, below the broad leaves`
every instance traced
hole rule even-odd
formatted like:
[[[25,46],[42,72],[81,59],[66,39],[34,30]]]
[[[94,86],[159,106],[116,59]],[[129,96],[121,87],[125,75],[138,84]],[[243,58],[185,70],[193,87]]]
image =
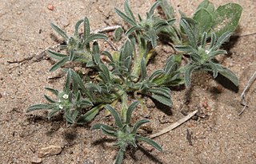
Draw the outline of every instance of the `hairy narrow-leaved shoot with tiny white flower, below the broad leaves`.
[[[188,36],[189,45],[176,45],[174,48],[182,53],[190,55],[190,64],[186,65],[184,68],[186,86],[190,87],[190,74],[198,69],[213,72],[214,78],[218,76],[219,72],[222,74],[222,76],[225,76],[236,86],[238,86],[238,77],[235,76],[234,73],[229,69],[224,68],[221,64],[215,62],[216,56],[226,53],[225,50],[220,50],[219,48],[230,38],[231,33],[223,33],[218,39],[216,38],[215,33],[211,33],[210,45],[206,46],[206,32],[202,34],[201,42],[198,43],[194,31],[186,19],[181,20],[181,25]]]

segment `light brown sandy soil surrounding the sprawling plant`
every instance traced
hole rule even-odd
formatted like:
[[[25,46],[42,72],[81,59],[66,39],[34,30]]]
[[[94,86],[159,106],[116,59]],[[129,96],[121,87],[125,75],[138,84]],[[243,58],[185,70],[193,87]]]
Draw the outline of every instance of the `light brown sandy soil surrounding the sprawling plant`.
[[[153,0],[130,0],[134,13],[142,15]],[[174,1],[178,9],[191,14],[198,2]],[[199,110],[198,119],[190,119],[182,126],[155,140],[164,151],[158,152],[146,144],[138,150],[129,150],[124,163],[256,163],[256,89],[255,84],[247,94],[249,107],[242,115],[240,94],[250,76],[256,70],[256,3],[254,0],[216,0],[216,6],[237,2],[243,7],[238,37],[228,47],[229,55],[222,57],[222,64],[234,71],[239,88],[232,87],[222,79],[198,72],[189,90],[173,91],[174,107],[159,110],[150,100],[147,111],[140,116],[150,117],[148,128],[152,133],[160,131],[184,113]],[[54,10],[48,10],[52,4]],[[58,72],[48,72],[51,63],[38,59],[44,49],[55,45],[50,37],[50,22],[73,33],[74,23],[87,16],[92,29],[107,25],[124,25],[114,14],[114,7],[122,9],[123,1],[50,1],[50,0],[1,0],[0,3],[0,163],[112,163],[116,150],[111,141],[99,131],[90,131],[90,125],[67,128],[62,116],[46,119],[45,111],[26,114],[26,108],[42,103],[43,87],[62,88],[64,77],[49,80]],[[166,47],[158,49],[157,59],[166,57]],[[154,60],[152,69],[161,65]],[[190,103],[185,104],[186,101]],[[166,112],[163,112],[166,111]],[[183,113],[183,114],[182,114]],[[107,122],[100,114],[94,122]],[[187,139],[192,133],[191,141]],[[42,147],[62,147],[58,155],[38,158]]]

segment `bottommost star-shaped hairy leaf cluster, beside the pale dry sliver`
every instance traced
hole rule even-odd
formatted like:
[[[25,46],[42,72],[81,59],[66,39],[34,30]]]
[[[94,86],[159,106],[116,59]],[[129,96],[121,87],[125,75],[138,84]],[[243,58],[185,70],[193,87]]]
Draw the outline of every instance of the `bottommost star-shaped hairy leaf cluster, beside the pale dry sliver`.
[[[113,107],[111,107],[110,105],[106,105],[105,108],[109,110],[114,117],[115,127],[110,127],[102,123],[94,124],[91,127],[92,130],[100,129],[103,134],[110,135],[111,137],[117,139],[117,143],[115,143],[114,146],[117,146],[119,150],[118,155],[115,159],[115,164],[122,163],[122,159],[127,147],[138,147],[138,141],[148,143],[151,146],[154,146],[154,148],[156,148],[157,150],[162,151],[162,147],[159,146],[158,143],[155,143],[152,139],[142,137],[141,135],[137,134],[138,128],[141,127],[144,123],[149,123],[150,120],[141,119],[137,123],[135,123],[134,126],[130,125],[132,112],[137,105],[138,101],[131,103],[130,106],[125,109],[126,116],[123,118],[118,115],[118,111],[116,111]]]

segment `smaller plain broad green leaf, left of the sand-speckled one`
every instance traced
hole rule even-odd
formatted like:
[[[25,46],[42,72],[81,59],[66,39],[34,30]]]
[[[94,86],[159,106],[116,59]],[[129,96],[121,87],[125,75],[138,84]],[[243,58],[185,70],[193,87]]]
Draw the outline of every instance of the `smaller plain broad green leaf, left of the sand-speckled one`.
[[[193,19],[197,22],[195,25],[197,31],[196,37],[199,39],[204,32],[208,33],[210,31],[213,25],[213,18],[209,11],[202,8],[194,14]]]

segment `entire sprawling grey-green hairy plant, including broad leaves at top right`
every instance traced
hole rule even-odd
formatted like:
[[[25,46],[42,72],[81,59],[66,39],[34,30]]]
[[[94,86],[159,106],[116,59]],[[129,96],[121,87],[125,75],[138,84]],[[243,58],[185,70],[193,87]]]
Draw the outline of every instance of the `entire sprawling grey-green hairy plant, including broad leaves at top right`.
[[[162,8],[165,18],[154,14],[154,10]],[[138,14],[138,21],[130,9],[128,0],[124,3],[124,12],[115,9],[116,13],[130,24],[130,29],[116,29],[114,41],[125,41],[114,52],[101,50],[98,39],[107,40],[101,33],[90,32],[88,18],[79,20],[74,26],[74,35],[68,36],[57,25],[52,28],[64,39],[61,53],[48,50],[50,57],[57,60],[50,71],[62,68],[66,62],[80,62],[90,68],[90,75],[82,75],[71,68],[63,68],[66,82],[62,91],[46,88],[55,99],[45,96],[48,103],[35,104],[27,112],[40,109],[50,110],[48,119],[59,113],[63,114],[68,126],[88,123],[104,107],[114,116],[116,127],[95,124],[92,129],[100,129],[104,134],[115,137],[115,146],[120,149],[116,163],[121,163],[129,145],[137,147],[138,141],[144,141],[158,150],[162,147],[153,140],[138,135],[138,128],[148,123],[148,119],[139,120],[130,125],[132,112],[138,102],[143,103],[141,96],[148,96],[166,106],[172,107],[170,88],[185,84],[190,87],[190,75],[196,70],[212,72],[214,78],[222,74],[234,85],[238,86],[238,78],[228,68],[215,59],[226,51],[220,49],[230,38],[242,13],[242,7],[229,3],[214,10],[213,3],[204,0],[192,18],[180,12],[179,24],[174,24],[174,10],[166,0],[158,0],[151,6],[143,19]],[[82,33],[79,33],[80,28]],[[166,35],[172,41],[174,54],[166,59],[163,68],[147,71],[150,58],[154,57],[155,47],[160,36]],[[105,56],[106,61],[102,60]],[[182,62],[186,58],[186,64]],[[141,95],[141,96],[138,96]],[[128,107],[128,97],[136,101]],[[121,109],[115,110],[115,104],[121,102]],[[118,114],[119,111],[119,114]]]

